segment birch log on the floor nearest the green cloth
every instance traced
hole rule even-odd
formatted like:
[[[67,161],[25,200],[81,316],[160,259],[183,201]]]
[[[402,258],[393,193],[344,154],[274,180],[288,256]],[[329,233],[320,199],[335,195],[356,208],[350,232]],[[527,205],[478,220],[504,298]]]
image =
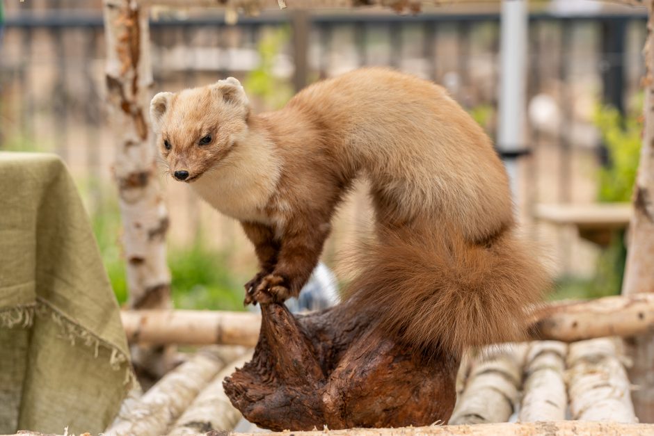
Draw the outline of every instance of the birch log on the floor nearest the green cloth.
[[[118,417],[104,435],[165,435],[168,427],[223,366],[215,350],[200,350],[161,378],[125,415]]]

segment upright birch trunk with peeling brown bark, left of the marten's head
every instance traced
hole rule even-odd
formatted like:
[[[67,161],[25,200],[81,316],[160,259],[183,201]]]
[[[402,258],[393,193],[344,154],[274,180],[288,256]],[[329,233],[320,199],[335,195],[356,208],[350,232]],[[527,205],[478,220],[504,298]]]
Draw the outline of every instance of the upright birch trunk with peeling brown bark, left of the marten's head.
[[[156,151],[147,120],[152,88],[147,18],[147,8],[137,1],[104,0],[107,102],[116,138],[113,175],[127,259],[127,305],[166,309],[171,307],[165,241],[168,213],[157,182]],[[162,353],[161,348],[152,352],[133,347],[137,371],[145,369],[160,377],[168,369],[161,366]]]

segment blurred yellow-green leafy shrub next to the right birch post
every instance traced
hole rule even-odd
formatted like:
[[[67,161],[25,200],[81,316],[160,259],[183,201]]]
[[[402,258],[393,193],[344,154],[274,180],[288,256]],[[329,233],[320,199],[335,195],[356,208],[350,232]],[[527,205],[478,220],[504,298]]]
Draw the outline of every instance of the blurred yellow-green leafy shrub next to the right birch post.
[[[610,106],[598,107],[594,118],[610,161],[609,167],[602,168],[598,175],[598,200],[628,202],[638,170],[642,123],[634,115],[621,117]]]

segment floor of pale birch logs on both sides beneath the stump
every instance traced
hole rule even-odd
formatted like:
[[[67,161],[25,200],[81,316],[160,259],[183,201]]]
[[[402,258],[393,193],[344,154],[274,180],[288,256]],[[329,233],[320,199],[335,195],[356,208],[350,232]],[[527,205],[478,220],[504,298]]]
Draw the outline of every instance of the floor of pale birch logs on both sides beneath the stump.
[[[637,423],[621,348],[618,338],[488,347],[465,356],[448,425],[278,435],[654,434],[654,424]],[[242,420],[223,391],[223,379],[251,357],[252,350],[241,346],[201,348],[145,394],[134,391],[104,435],[245,436],[264,431]],[[237,423],[247,433],[234,433]]]

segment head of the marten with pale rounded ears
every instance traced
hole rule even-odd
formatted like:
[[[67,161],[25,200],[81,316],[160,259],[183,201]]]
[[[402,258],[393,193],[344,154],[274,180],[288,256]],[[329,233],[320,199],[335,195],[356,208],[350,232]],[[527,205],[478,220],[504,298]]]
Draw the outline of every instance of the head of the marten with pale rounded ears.
[[[159,92],[150,103],[157,145],[170,175],[193,181],[217,168],[248,132],[250,103],[229,77],[181,92]]]

